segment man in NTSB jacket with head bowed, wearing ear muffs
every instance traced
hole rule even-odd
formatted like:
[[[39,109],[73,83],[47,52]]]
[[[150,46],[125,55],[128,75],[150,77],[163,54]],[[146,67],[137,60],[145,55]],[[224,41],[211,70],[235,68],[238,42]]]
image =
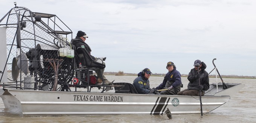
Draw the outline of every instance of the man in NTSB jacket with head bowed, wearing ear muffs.
[[[149,77],[151,76],[151,71],[149,68],[143,69],[138,73],[138,77],[133,81],[133,86],[140,94],[159,94],[155,88],[149,87]]]

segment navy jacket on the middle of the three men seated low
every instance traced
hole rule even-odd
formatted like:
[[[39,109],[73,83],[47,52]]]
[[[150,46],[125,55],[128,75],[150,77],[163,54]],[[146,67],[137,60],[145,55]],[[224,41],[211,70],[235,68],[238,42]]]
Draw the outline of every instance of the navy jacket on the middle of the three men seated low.
[[[180,75],[180,72],[176,70],[176,67],[171,72],[168,72],[165,75],[163,79],[163,83],[161,83],[155,89],[160,90],[160,89],[163,89],[164,87],[170,87],[170,86],[177,88],[179,90],[181,88],[181,75]]]

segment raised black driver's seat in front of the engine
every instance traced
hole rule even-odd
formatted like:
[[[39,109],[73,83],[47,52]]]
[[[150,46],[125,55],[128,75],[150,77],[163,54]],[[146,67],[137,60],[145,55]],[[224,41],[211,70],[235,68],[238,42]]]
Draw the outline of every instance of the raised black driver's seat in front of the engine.
[[[78,47],[76,49],[76,51],[77,51],[77,53],[80,53],[80,54],[78,54],[78,56],[80,58],[82,66],[86,66],[88,68],[92,68],[92,67],[93,68],[99,68],[99,69],[103,69],[103,68],[106,67],[106,65],[94,61],[91,58],[90,54],[84,48]]]

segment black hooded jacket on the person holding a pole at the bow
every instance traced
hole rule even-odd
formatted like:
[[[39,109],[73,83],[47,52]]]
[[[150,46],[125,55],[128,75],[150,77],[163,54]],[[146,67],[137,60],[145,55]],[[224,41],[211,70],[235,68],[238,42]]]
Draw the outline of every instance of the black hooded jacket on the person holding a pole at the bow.
[[[200,85],[203,86],[203,91],[205,92],[206,90],[209,89],[209,76],[208,73],[205,71],[206,69],[206,64],[202,62],[202,67],[201,70],[199,71],[200,75]],[[195,68],[191,69],[189,72],[189,75],[187,79],[189,80],[189,84],[187,85],[187,89],[189,90],[200,90],[199,86],[199,79],[196,78],[197,70]]]

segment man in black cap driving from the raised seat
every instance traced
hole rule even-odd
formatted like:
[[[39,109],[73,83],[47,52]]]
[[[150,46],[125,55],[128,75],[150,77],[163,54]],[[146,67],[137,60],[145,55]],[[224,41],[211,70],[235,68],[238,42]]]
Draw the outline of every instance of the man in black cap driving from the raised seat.
[[[88,36],[85,34],[85,32],[78,31],[77,34],[76,34],[76,38],[72,39],[71,42],[72,42],[73,45],[75,45],[76,48],[78,48],[78,47],[84,48],[90,54],[91,58],[95,59],[95,57],[91,55],[91,48],[90,48],[90,46],[87,43],[85,43],[86,38],[88,38]],[[103,61],[105,61],[105,59],[106,58],[103,58]],[[105,64],[105,62],[103,62],[103,64]],[[95,72],[96,72],[97,75],[99,75],[100,72],[101,72],[101,74],[103,76],[103,79],[104,79],[104,82],[106,84],[110,84],[111,82],[109,82],[106,79],[106,77],[104,76],[104,70],[105,70],[105,68],[103,68],[101,71],[100,70],[95,70]],[[99,79],[102,79],[101,76],[98,76],[98,77],[99,77]]]

